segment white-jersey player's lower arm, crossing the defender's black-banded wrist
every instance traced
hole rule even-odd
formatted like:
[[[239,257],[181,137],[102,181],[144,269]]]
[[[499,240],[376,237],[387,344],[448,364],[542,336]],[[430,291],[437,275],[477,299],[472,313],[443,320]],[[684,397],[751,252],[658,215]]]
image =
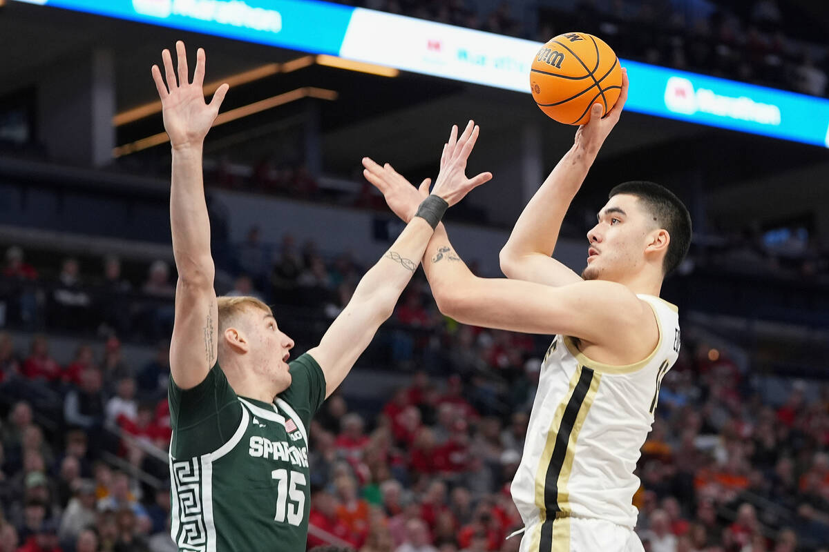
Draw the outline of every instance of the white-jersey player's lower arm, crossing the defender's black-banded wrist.
[[[450,137],[444,151],[451,154],[454,147]],[[417,202],[410,194],[413,186],[389,165],[372,164],[366,169],[366,178],[405,219]],[[429,241],[423,263],[440,311],[463,324],[570,335],[601,345],[608,363],[618,364],[647,355],[659,337],[650,307],[621,284],[579,279],[566,286],[549,286],[474,276],[449,242],[443,224]]]

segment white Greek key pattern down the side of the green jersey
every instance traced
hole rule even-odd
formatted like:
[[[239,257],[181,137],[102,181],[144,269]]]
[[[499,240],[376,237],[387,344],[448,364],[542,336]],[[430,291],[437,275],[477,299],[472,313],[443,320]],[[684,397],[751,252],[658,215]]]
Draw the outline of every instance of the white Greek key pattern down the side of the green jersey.
[[[187,550],[206,550],[207,531],[201,503],[199,458],[173,462],[172,474],[177,489],[180,523],[177,545]]]

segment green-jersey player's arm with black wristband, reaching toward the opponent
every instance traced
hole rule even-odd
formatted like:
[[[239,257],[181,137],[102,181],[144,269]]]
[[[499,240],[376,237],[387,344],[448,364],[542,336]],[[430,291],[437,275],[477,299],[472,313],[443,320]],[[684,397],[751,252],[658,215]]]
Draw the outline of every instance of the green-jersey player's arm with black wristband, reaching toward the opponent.
[[[453,128],[453,132],[457,133],[457,128]],[[395,187],[397,191],[394,193],[400,195],[400,203],[404,203],[405,197],[405,204],[411,208],[406,209],[401,217],[407,223],[406,227],[380,261],[362,277],[348,305],[322,336],[318,347],[308,351],[325,374],[326,396],[337,389],[356,359],[371,343],[377,329],[394,311],[400,294],[417,269],[426,244],[434,232],[427,220],[436,224],[439,215],[443,214],[442,210],[434,212],[436,206],[443,204],[445,209],[448,205],[456,204],[469,190],[492,178],[489,173],[482,173],[473,179],[467,179],[463,175],[466,160],[477,138],[478,127],[474,127],[470,121],[467,130],[458,140],[454,155],[444,163],[431,195],[428,179],[424,180],[419,189],[408,182],[406,189]],[[376,166],[376,163],[366,157],[363,164],[368,178],[371,175],[368,167]]]

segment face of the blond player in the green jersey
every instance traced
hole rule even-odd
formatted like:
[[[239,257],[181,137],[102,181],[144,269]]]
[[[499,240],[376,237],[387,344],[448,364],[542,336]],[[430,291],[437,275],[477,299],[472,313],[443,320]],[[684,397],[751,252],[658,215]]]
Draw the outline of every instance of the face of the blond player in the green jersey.
[[[291,385],[288,373],[288,358],[293,348],[293,339],[284,334],[270,314],[256,309],[250,310],[250,327],[252,328],[251,351],[254,369],[280,391]]]

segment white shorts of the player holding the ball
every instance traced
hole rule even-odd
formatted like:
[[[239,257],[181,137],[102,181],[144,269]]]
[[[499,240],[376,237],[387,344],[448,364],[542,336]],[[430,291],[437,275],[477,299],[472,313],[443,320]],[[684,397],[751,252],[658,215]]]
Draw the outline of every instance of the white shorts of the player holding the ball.
[[[518,538],[516,535],[513,538]],[[526,527],[520,552],[644,552],[630,527],[586,517],[560,517]]]

